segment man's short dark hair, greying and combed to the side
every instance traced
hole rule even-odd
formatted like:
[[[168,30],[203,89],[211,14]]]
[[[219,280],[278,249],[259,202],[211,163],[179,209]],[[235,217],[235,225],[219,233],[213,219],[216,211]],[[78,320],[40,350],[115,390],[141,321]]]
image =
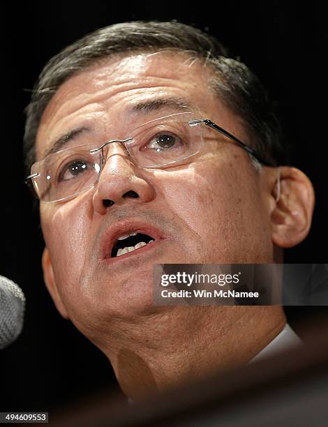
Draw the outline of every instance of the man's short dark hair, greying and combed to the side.
[[[130,52],[179,50],[202,59],[214,71],[211,88],[246,126],[250,144],[274,165],[286,161],[275,105],[251,70],[207,33],[177,21],[135,21],[98,29],[52,57],[34,85],[25,108],[24,158],[27,174],[36,161],[35,142],[45,107],[70,77],[105,57]]]

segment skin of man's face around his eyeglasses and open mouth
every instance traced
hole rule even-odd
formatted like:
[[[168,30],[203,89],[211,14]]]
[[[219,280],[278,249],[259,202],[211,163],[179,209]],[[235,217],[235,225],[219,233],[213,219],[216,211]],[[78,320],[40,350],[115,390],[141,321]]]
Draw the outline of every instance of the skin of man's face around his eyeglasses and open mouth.
[[[188,111],[153,103],[151,111],[131,112],[136,105],[175,98],[194,107],[197,119],[209,118],[247,141],[241,119],[208,84],[209,71],[182,54],[135,54],[94,66],[70,78],[50,101],[38,130],[37,158],[80,126],[90,130],[68,147],[126,138],[142,123]],[[246,152],[210,128],[204,128],[202,153],[166,170],[142,169],[124,147],[110,144],[96,186],[73,200],[40,203],[54,282],[70,319],[92,336],[111,319],[156,313],[153,264],[272,262],[269,200],[261,182]],[[103,200],[114,204],[105,207]],[[118,230],[139,230],[155,241],[105,259]]]

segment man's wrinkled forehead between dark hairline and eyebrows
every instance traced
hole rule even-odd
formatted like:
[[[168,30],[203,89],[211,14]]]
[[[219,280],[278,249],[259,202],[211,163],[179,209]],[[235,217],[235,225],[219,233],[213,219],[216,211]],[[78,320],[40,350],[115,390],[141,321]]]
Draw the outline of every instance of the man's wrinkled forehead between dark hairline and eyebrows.
[[[221,122],[227,121],[229,112],[209,89],[212,73],[202,61],[183,52],[140,53],[103,60],[70,77],[50,100],[38,128],[37,158],[73,128],[87,124],[106,133],[130,125],[137,121],[138,114],[131,117],[128,112],[149,101],[156,105],[156,100],[179,99],[186,111],[193,108],[212,118],[218,114]]]

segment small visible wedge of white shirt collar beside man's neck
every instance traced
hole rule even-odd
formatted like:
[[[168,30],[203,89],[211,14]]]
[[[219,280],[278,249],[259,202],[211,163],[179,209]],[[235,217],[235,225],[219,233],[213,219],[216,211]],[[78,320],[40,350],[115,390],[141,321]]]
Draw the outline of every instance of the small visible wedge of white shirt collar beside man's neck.
[[[253,357],[248,364],[252,364],[253,361],[267,359],[268,357],[275,356],[276,354],[285,352],[294,347],[301,347],[302,345],[304,345],[303,341],[299,339],[290,325],[286,323],[280,334],[278,334],[267,347],[264,347],[260,353]]]

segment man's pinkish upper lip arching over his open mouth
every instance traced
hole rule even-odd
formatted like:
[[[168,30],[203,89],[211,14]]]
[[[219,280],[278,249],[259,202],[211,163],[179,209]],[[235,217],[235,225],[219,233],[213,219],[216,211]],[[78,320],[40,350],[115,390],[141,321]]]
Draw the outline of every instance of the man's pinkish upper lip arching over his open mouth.
[[[144,220],[129,218],[118,221],[103,232],[100,241],[100,259],[110,258],[117,237],[131,232],[148,234],[154,240],[165,237],[163,232],[154,227],[154,225],[146,223]]]

